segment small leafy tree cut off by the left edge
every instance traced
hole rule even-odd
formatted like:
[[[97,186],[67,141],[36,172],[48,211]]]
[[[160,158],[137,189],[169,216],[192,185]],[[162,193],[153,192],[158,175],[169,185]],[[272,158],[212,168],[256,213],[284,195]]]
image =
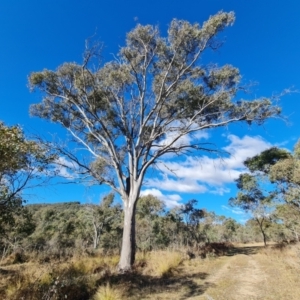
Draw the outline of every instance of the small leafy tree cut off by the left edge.
[[[0,234],[4,224],[14,225],[15,212],[20,214],[24,190],[47,180],[43,172],[54,160],[42,145],[26,139],[19,126],[0,122]]]

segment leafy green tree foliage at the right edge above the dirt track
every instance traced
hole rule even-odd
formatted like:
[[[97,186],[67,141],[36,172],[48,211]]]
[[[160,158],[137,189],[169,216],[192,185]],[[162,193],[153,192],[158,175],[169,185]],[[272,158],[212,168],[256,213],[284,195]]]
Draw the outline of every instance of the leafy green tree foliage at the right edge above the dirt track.
[[[273,147],[248,158],[245,165],[250,173],[241,174],[237,179],[240,191],[235,198],[230,199],[230,204],[252,213],[264,239],[268,231],[277,241],[290,239],[291,235],[299,240],[298,150],[299,142],[295,145],[293,154]]]

